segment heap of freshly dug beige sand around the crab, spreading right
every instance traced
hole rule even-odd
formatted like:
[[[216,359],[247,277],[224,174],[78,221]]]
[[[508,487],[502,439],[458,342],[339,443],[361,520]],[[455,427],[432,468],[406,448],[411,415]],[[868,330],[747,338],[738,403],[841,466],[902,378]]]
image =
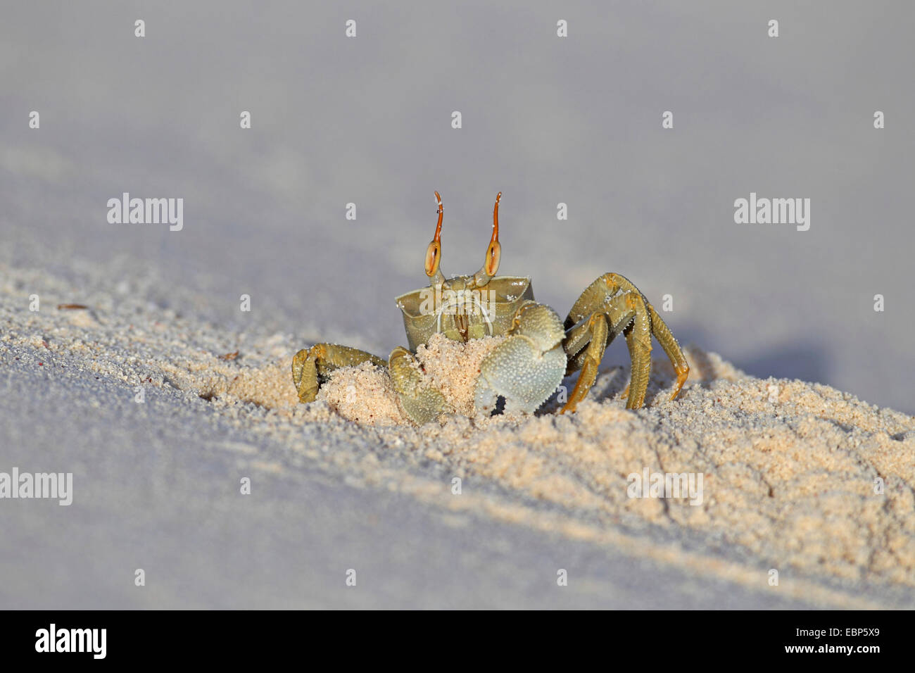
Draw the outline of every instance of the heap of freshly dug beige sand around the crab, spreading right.
[[[430,381],[472,407],[472,374],[488,350],[442,338],[418,355]],[[385,437],[578,519],[684,526],[781,572],[915,585],[915,418],[825,385],[753,378],[714,353],[687,357],[682,396],[668,400],[673,371],[656,362],[639,412],[624,408],[628,370],[608,368],[575,415],[555,415],[551,402],[536,416],[444,416]],[[322,398],[360,423],[404,423],[387,374],[371,365],[339,370]],[[646,472],[701,474],[701,502],[630,497],[631,475]]]

